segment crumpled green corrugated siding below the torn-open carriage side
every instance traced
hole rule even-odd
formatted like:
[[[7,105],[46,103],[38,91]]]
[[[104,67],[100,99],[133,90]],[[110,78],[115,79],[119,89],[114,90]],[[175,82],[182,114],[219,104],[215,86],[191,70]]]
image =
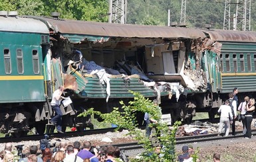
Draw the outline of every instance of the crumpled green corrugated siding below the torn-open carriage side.
[[[84,91],[79,95],[84,98],[106,98],[106,86],[99,82],[98,78],[86,77],[88,83]],[[110,98],[132,98],[134,97],[129,90],[139,92],[144,97],[156,97],[156,91],[145,87],[138,78],[130,78],[127,83],[122,78],[110,78]]]

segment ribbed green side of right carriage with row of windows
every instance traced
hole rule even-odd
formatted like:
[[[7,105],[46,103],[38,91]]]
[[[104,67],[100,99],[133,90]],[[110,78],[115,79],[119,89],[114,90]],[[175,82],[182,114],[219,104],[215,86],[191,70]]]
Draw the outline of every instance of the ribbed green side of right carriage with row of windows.
[[[238,87],[239,92],[256,91],[256,61],[254,61],[256,58],[256,44],[242,42],[221,43],[220,62],[223,75],[221,77],[221,93],[230,93],[234,87]]]

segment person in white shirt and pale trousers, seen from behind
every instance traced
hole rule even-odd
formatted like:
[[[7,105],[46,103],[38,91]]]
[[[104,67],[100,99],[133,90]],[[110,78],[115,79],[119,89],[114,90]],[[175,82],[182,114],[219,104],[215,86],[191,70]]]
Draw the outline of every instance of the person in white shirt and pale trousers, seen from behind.
[[[231,107],[229,106],[229,100],[226,100],[225,104],[219,107],[218,112],[221,112],[218,134],[221,134],[221,130],[225,125],[225,136],[229,136],[230,123],[232,123],[233,120]]]

